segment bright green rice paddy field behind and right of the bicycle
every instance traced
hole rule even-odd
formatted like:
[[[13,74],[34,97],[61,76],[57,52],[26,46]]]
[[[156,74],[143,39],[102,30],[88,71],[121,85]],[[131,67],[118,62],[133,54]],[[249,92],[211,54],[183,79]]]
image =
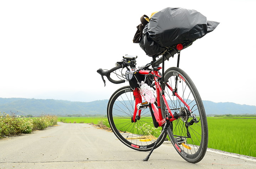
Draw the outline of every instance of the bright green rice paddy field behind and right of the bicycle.
[[[104,117],[59,117],[64,123],[94,123],[103,122]],[[208,147],[217,150],[256,157],[256,117],[208,117],[209,142]]]

